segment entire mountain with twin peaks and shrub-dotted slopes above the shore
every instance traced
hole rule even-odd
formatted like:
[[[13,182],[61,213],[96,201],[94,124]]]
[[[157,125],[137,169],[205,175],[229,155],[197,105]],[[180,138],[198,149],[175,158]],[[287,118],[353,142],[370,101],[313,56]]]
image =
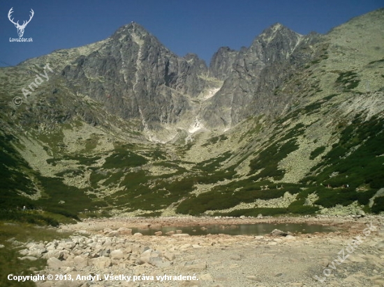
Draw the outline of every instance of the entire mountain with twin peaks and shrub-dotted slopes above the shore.
[[[131,24],[82,52],[26,61],[29,72],[1,69],[1,155],[29,179],[26,191],[13,187],[20,173],[4,165],[7,192],[73,213],[81,210],[73,199],[133,215],[379,210],[383,39],[370,35],[380,35],[383,13],[325,36],[276,24],[249,48],[219,49],[210,70],[193,54],[175,56],[144,29],[135,39]],[[140,40],[154,45],[142,44],[147,56],[138,57]],[[120,56],[125,49],[130,58]],[[221,67],[217,59],[227,52]],[[66,63],[57,55],[67,55]],[[47,59],[56,75],[20,107],[9,104]],[[161,136],[168,143],[145,140]],[[364,172],[356,173],[357,159]]]

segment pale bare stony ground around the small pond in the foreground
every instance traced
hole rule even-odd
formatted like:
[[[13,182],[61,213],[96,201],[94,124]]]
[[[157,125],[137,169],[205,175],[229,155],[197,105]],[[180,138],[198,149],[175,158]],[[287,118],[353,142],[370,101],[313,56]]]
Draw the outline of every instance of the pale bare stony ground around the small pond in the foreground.
[[[135,227],[200,225],[205,228],[209,224],[249,223],[323,224],[334,226],[337,231],[258,236],[191,236],[182,230],[168,235],[131,234],[131,228]],[[121,217],[86,219],[63,225],[59,231],[73,231],[74,235],[67,240],[30,242],[21,253],[32,260],[47,258],[48,265],[39,274],[67,278],[71,275],[74,280],[39,281],[39,287],[384,286],[383,216]],[[77,275],[89,274],[99,274],[101,280],[90,277],[76,280]],[[126,277],[105,279],[104,276],[112,274]],[[156,276],[164,274],[195,276],[192,279],[196,280],[156,280]]]

